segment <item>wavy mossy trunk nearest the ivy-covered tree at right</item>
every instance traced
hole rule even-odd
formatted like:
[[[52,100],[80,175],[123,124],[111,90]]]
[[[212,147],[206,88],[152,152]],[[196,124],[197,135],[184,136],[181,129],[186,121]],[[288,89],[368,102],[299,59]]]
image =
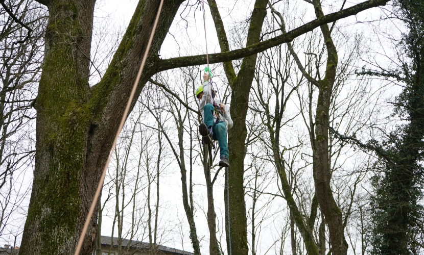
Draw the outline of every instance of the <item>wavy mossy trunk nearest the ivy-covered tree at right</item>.
[[[317,18],[324,14],[319,0],[313,0]],[[319,95],[315,116],[315,148],[313,150],[313,172],[315,181],[315,194],[321,212],[324,214],[328,225],[328,232],[335,255],[347,254],[347,242],[344,238],[343,216],[331,190],[331,169],[328,162],[328,115],[331,103],[331,94],[336,79],[338,63],[337,50],[334,46],[328,25],[321,25],[321,32],[327,48],[327,64],[325,78],[319,83]]]

